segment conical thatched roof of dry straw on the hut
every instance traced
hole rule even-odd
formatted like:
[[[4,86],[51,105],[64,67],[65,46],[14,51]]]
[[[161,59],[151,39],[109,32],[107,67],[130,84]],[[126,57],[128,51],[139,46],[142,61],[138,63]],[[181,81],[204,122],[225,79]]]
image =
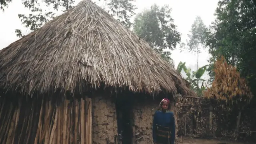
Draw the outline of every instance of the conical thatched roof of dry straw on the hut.
[[[174,68],[90,0],[0,51],[0,86],[21,93],[82,86],[189,94]]]

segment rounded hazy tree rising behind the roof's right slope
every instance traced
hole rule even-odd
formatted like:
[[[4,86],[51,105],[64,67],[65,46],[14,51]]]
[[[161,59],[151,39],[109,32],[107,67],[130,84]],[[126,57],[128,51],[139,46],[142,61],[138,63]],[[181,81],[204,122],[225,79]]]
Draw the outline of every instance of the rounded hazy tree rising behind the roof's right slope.
[[[170,51],[180,43],[180,32],[171,17],[171,8],[168,5],[159,7],[156,4],[148,10],[136,15],[133,31],[150,44],[156,52],[162,55],[174,66]]]

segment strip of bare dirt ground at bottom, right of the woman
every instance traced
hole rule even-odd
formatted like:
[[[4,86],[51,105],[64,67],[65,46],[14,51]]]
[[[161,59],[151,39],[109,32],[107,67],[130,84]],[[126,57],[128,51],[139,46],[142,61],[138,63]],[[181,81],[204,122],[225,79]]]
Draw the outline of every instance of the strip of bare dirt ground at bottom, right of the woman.
[[[227,142],[221,140],[203,140],[203,139],[190,139],[190,138],[182,138],[182,142],[179,144],[256,144],[249,142]]]

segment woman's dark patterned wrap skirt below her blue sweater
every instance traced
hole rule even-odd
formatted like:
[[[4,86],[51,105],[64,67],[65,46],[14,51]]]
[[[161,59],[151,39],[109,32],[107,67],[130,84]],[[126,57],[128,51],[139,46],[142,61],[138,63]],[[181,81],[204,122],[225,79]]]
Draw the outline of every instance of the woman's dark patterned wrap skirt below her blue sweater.
[[[156,143],[170,144],[171,130],[170,127],[156,125]]]

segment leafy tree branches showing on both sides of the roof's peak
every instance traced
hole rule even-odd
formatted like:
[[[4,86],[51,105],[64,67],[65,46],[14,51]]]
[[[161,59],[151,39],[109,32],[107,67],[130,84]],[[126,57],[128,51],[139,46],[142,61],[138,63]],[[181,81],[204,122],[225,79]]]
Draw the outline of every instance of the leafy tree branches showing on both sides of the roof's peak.
[[[97,1],[100,2],[101,0]],[[112,16],[116,16],[127,28],[130,28],[132,25],[130,18],[135,14],[134,10],[136,9],[135,5],[132,4],[134,1],[135,0],[105,0],[106,7],[104,7],[104,9]],[[25,27],[34,31],[40,28],[44,23],[56,17],[57,12],[66,12],[72,8],[74,2],[75,0],[42,0],[42,2],[38,0],[22,0],[25,8],[29,8],[32,13],[29,15],[19,14],[18,16]],[[44,10],[43,6],[52,9]],[[21,30],[16,29],[15,32],[17,36],[22,36]]]

